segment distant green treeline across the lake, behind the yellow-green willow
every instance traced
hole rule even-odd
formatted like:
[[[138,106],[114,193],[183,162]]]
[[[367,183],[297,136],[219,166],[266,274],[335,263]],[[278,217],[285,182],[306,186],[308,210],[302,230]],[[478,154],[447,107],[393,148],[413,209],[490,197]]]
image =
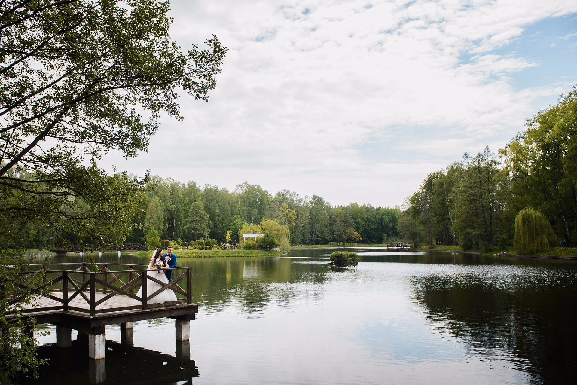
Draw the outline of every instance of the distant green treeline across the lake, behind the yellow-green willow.
[[[126,242],[147,241],[151,231],[166,240],[186,242],[214,238],[239,240],[244,223],[276,219],[290,231],[291,244],[327,244],[354,241],[381,243],[399,236],[399,208],[373,207],[351,203],[333,206],[322,197],[301,196],[289,190],[274,196],[259,185],[239,184],[234,191],[218,186],[186,184],[158,175],[149,180],[151,188],[141,201],[140,224]]]

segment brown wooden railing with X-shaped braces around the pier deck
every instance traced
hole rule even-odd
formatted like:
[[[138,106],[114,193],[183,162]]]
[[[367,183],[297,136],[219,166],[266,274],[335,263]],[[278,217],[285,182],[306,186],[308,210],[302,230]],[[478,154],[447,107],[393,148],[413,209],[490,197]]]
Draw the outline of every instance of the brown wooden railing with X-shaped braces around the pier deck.
[[[81,265],[76,270],[52,270],[50,267],[55,267],[58,265]],[[30,265],[42,266],[42,265]],[[152,274],[156,270],[134,270],[133,267],[147,267],[146,265],[129,265],[129,264],[96,264],[100,268],[100,272],[92,272],[89,270],[88,266],[93,266],[88,263],[77,263],[77,264],[50,264],[48,266],[42,266],[40,270],[21,272],[20,274],[38,274],[39,271],[44,272],[44,283],[41,286],[36,287],[33,291],[38,293],[36,304],[40,306],[32,306],[24,309],[23,312],[44,312],[44,311],[77,311],[83,313],[89,313],[91,316],[95,316],[98,313],[108,313],[108,312],[118,312],[118,311],[128,311],[133,309],[143,309],[147,310],[149,308],[155,308],[159,306],[167,305],[177,305],[177,304],[192,304],[192,267],[175,267],[164,271],[173,271],[173,275],[177,271],[184,272],[168,282],[164,283],[159,279],[154,278]],[[128,266],[128,270],[110,270],[108,267],[111,266]],[[124,279],[123,279],[124,278]],[[182,282],[186,279],[186,290],[182,289],[178,285],[178,282]],[[162,287],[153,293],[148,292],[148,281],[156,282]],[[142,286],[142,297],[138,297],[134,294],[134,289],[138,286]],[[158,294],[162,293],[164,290],[173,290],[175,294],[179,294],[185,299],[164,302],[163,304],[149,304],[152,298],[156,297]],[[62,293],[62,295],[58,295]],[[107,294],[105,296],[98,296],[96,293]],[[141,302],[139,305],[130,306],[117,306],[117,307],[100,307],[99,305],[105,304],[110,301],[114,296],[122,295],[125,297],[132,298]],[[50,300],[61,302],[61,305],[57,306],[43,306],[40,297],[50,298]],[[82,306],[74,306],[71,302],[76,297],[81,297],[84,302],[81,302]],[[178,297],[177,297],[178,298]],[[14,305],[19,301],[18,297],[11,298],[8,305]],[[46,301],[44,301],[46,302]],[[10,312],[8,312],[10,313]]]

